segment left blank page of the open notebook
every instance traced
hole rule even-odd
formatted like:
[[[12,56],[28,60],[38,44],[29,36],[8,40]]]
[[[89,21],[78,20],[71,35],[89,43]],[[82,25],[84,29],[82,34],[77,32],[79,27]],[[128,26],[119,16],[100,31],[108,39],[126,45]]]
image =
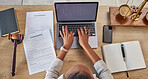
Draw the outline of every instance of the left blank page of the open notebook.
[[[120,43],[104,45],[102,46],[102,50],[105,63],[111,73],[127,71]]]

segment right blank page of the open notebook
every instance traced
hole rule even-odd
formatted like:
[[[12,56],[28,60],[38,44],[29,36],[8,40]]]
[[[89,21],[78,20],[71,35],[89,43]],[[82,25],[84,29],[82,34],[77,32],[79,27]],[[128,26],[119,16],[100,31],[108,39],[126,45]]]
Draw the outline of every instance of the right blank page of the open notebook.
[[[146,68],[139,41],[124,42],[126,65],[128,70]]]

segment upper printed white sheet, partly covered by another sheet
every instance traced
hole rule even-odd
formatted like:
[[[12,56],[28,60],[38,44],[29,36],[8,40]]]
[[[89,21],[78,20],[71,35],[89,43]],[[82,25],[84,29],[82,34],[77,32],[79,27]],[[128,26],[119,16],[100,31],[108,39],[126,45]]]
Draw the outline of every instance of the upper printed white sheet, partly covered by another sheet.
[[[53,11],[27,12],[25,35],[46,29],[49,29],[54,42]]]

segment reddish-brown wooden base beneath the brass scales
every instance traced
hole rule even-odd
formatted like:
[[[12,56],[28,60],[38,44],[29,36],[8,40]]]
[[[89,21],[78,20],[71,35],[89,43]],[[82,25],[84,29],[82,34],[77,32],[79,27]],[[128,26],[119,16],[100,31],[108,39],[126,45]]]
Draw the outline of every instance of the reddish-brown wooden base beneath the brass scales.
[[[148,21],[146,20],[146,13],[148,12],[148,8],[142,9],[142,14],[138,21],[134,21],[131,19],[131,16],[123,19],[123,17],[119,14],[118,7],[109,7],[110,14],[110,26],[142,26],[148,27]]]

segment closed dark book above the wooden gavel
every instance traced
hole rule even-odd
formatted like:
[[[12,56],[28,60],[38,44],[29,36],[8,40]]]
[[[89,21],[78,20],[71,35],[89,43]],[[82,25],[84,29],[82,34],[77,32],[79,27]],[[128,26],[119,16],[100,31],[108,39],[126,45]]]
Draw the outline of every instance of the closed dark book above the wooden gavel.
[[[14,8],[0,11],[0,35],[7,36],[9,33],[18,33],[19,27]]]

